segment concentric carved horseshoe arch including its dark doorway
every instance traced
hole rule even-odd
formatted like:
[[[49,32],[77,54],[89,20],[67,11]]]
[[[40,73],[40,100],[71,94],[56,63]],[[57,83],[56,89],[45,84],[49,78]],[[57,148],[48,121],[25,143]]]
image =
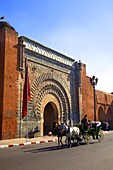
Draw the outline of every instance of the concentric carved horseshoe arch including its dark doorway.
[[[68,113],[71,113],[70,108],[72,106],[71,95],[68,90],[66,82],[64,83],[58,75],[52,72],[42,74],[33,83],[31,88],[33,100],[30,100],[30,102],[35,107],[37,115],[40,116],[38,122],[40,136],[52,131],[55,121],[61,123],[68,119]]]

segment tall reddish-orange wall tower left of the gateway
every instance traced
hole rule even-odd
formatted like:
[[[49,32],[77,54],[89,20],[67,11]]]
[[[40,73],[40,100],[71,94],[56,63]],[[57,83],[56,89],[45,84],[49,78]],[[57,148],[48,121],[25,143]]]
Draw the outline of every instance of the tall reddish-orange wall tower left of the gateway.
[[[0,139],[15,138],[17,132],[18,33],[7,23],[0,23]]]

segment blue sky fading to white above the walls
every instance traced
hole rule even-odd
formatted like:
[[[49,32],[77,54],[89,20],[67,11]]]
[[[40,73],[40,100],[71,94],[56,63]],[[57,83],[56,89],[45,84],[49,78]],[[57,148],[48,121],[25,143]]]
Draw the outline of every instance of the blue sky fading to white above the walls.
[[[96,89],[113,92],[112,0],[2,0],[3,15],[19,36],[81,60]]]

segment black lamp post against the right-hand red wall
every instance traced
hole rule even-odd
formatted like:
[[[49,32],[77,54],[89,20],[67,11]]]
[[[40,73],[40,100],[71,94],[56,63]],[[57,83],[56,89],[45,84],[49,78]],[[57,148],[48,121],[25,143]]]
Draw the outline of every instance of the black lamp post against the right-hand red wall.
[[[98,78],[93,76],[91,78],[91,84],[93,85],[93,94],[94,94],[94,121],[96,121],[96,93],[95,93],[95,86],[98,83]]]

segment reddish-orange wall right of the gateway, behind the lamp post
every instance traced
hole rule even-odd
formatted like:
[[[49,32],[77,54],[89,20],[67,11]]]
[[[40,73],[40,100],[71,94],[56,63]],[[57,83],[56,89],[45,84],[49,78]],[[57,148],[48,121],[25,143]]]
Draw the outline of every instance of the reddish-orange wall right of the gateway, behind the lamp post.
[[[86,76],[86,65],[81,69],[82,117],[94,120],[94,90],[91,77]],[[107,121],[113,129],[113,94],[96,90],[96,120]]]

